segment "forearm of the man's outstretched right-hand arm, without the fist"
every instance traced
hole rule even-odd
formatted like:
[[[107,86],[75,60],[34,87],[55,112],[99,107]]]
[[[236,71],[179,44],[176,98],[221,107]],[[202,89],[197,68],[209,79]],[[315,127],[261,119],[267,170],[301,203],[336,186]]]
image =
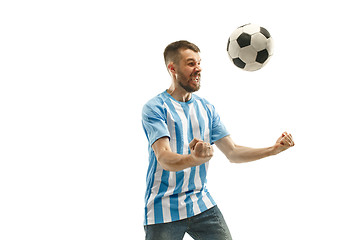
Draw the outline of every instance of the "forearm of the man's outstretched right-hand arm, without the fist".
[[[249,148],[235,145],[227,158],[232,163],[245,163],[275,155],[274,147]]]

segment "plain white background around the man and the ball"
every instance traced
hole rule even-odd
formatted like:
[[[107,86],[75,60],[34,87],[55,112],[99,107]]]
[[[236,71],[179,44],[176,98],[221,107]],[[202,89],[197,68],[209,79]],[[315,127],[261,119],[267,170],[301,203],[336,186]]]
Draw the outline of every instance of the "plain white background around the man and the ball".
[[[208,188],[233,238],[360,239],[355,4],[2,1],[0,238],[144,239],[141,109],[170,85],[164,48],[186,39],[201,49],[198,95],[237,144],[296,142],[240,165],[215,149]],[[257,72],[226,53],[250,22],[275,43]]]

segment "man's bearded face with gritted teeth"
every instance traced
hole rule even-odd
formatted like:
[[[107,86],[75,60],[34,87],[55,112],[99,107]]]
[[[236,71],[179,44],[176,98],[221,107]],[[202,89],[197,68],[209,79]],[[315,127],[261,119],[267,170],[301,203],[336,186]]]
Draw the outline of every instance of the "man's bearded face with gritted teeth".
[[[200,89],[200,55],[190,49],[180,50],[181,59],[176,64],[177,83],[187,92],[192,93]]]

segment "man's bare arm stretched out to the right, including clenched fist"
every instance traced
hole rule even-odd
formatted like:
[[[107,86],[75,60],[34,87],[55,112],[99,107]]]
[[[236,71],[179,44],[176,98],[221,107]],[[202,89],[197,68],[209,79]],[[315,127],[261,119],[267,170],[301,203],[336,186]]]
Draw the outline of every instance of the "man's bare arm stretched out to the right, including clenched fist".
[[[284,132],[274,146],[268,148],[249,148],[236,145],[230,136],[215,142],[215,145],[232,163],[245,163],[276,155],[295,145],[291,134]]]

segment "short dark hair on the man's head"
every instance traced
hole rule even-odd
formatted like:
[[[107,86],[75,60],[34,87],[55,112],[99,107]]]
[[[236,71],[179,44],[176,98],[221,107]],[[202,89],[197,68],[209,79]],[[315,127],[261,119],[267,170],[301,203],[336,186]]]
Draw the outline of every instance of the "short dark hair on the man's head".
[[[190,49],[194,52],[200,52],[198,46],[186,40],[170,43],[164,51],[164,60],[166,65],[168,65],[170,62],[177,64],[180,61],[180,49]]]

